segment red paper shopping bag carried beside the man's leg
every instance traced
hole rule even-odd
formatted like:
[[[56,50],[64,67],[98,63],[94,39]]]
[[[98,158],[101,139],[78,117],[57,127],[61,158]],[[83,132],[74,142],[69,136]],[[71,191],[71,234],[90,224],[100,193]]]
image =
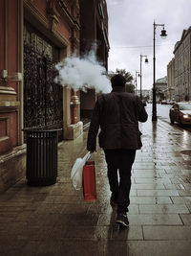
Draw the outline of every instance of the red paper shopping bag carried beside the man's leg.
[[[96,200],[95,161],[87,161],[83,167],[83,194],[86,201]]]

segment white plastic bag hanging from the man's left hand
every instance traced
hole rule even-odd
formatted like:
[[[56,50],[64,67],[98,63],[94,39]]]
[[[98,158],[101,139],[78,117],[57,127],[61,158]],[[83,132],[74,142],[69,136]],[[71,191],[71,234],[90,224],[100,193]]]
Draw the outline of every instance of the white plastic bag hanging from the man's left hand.
[[[83,158],[77,158],[74,162],[74,166],[71,171],[71,178],[73,179],[73,185],[75,190],[80,190],[82,188],[83,182],[83,166],[86,161],[90,158],[91,153],[87,152]]]

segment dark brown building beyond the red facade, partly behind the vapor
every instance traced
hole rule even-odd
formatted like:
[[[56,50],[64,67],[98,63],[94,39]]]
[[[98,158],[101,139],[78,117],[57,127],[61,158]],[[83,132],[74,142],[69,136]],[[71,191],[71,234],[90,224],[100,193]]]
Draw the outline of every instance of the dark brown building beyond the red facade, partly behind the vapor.
[[[105,0],[80,0],[80,55],[94,51],[97,61],[108,69],[108,13]],[[90,118],[96,103],[95,90],[80,93],[82,118]]]

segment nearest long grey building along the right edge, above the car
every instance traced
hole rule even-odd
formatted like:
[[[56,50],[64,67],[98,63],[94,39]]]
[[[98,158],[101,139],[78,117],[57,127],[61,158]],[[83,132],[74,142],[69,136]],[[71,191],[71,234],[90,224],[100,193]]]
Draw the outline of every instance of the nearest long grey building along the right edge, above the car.
[[[191,100],[191,27],[183,30],[175,45],[175,100]]]

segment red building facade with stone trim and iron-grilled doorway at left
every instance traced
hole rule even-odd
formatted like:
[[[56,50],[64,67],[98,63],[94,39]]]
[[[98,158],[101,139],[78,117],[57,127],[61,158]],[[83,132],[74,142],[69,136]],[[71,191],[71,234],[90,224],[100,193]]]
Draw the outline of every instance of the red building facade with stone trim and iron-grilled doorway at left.
[[[83,131],[80,92],[54,81],[55,63],[80,55],[80,2],[0,0],[0,192],[25,175],[23,128]]]

